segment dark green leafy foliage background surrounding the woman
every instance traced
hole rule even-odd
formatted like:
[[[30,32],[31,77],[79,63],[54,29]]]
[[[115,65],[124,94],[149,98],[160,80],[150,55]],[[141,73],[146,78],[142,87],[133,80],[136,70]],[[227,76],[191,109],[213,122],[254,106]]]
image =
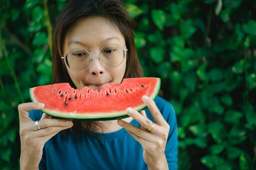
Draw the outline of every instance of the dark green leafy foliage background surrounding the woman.
[[[256,1],[126,0],[145,76],[175,108],[180,170],[254,170]],[[19,167],[17,105],[51,80],[66,0],[0,0],[0,169]]]

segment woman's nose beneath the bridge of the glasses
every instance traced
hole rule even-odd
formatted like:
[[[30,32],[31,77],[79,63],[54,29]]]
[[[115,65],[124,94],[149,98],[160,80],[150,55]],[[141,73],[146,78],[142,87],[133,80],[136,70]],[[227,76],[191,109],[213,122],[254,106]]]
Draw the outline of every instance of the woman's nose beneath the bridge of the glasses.
[[[95,55],[92,55],[93,53],[95,53]],[[94,76],[103,75],[104,66],[103,66],[103,63],[99,60],[99,53],[98,52],[93,52],[93,53],[90,54],[91,62],[89,65],[89,72],[91,75],[94,75]]]

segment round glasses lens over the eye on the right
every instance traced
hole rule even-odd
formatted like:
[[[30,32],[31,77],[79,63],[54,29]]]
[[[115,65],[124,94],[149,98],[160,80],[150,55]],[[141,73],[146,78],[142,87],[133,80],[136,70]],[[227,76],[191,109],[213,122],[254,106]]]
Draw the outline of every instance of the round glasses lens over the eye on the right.
[[[124,50],[117,44],[109,44],[101,48],[100,59],[107,67],[116,67],[124,60]]]

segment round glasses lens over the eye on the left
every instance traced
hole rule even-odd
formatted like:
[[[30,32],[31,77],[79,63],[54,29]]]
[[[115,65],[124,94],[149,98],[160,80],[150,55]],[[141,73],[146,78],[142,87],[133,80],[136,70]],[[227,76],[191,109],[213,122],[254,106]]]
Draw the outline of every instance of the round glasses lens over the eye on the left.
[[[84,49],[71,49],[66,54],[66,65],[73,71],[85,70],[90,63],[90,54]]]

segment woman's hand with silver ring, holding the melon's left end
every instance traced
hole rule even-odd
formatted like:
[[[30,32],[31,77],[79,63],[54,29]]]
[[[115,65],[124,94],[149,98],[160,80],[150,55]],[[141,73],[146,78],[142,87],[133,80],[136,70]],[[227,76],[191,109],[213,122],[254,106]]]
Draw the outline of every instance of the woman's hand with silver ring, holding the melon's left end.
[[[20,170],[38,169],[42,158],[44,144],[58,132],[71,128],[72,121],[62,119],[50,119],[43,113],[37,129],[35,122],[28,116],[29,110],[39,110],[44,107],[43,103],[22,103],[18,105],[19,135],[20,135]]]

